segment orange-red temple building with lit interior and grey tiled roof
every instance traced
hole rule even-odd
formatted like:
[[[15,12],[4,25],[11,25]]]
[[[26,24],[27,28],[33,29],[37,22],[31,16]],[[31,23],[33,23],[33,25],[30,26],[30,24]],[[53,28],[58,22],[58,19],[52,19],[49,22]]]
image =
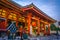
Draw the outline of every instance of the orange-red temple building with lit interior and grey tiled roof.
[[[15,35],[25,30],[28,35],[49,35],[50,24],[56,20],[49,17],[33,3],[21,6],[12,0],[0,0],[0,34],[9,34],[8,27],[14,22]]]

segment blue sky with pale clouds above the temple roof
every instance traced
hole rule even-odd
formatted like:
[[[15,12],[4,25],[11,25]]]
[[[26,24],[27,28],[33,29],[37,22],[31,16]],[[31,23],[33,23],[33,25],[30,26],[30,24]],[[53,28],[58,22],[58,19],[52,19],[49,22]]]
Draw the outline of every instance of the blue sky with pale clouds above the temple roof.
[[[55,20],[60,20],[60,0],[13,0],[16,3],[26,6],[33,3]]]

